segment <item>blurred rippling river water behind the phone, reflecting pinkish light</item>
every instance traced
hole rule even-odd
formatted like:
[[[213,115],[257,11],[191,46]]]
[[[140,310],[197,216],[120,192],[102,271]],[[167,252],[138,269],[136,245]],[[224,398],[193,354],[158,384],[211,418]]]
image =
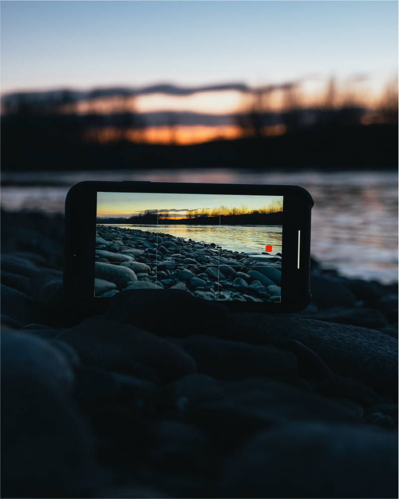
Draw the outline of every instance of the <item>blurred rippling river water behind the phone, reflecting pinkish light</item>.
[[[0,208],[63,213],[69,187],[82,180],[300,185],[315,201],[312,255],[325,268],[336,268],[350,277],[387,283],[398,280],[397,172],[0,172]]]

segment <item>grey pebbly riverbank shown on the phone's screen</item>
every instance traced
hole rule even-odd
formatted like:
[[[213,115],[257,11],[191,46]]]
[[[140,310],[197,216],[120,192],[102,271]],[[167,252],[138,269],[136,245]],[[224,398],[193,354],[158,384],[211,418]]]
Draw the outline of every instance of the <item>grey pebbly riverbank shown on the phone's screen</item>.
[[[208,300],[280,301],[281,253],[250,256],[215,243],[100,225],[95,277],[97,296],[171,288]]]

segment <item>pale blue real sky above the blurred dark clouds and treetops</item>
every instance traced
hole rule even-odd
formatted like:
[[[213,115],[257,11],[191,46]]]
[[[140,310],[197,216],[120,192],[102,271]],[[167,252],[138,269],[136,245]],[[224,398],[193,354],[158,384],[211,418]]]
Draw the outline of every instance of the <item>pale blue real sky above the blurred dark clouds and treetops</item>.
[[[379,85],[397,66],[396,0],[0,0],[0,93],[330,75]]]

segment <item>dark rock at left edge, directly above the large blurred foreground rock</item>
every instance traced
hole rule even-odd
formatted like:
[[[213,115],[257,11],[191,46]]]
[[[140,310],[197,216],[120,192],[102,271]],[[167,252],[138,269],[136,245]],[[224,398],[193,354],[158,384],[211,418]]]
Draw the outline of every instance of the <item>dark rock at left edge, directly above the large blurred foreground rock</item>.
[[[16,328],[26,324],[46,324],[51,321],[30,296],[3,284],[0,284],[0,315],[2,320]]]

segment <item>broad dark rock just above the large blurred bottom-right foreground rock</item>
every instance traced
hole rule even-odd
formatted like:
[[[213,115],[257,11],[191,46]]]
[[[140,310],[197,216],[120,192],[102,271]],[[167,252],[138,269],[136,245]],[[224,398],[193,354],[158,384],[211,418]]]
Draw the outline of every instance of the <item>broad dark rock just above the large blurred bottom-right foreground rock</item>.
[[[259,430],[293,421],[358,421],[352,408],[281,381],[213,381],[200,390],[201,395],[188,396],[187,415],[224,450]]]

